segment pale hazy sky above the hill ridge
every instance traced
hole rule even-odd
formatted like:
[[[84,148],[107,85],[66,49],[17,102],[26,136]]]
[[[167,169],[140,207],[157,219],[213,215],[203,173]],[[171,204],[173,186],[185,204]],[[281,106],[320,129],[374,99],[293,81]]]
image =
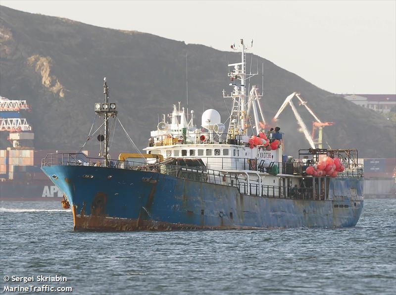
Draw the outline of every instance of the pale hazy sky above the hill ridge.
[[[31,13],[252,51],[339,94],[396,94],[396,1],[9,1]]]

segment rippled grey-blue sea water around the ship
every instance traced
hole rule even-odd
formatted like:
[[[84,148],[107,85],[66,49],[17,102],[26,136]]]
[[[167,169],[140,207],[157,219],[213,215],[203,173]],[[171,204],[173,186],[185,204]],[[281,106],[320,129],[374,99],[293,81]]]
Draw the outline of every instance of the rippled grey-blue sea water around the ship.
[[[365,200],[347,229],[102,233],[72,223],[59,202],[1,202],[0,293],[396,294],[395,199]]]

